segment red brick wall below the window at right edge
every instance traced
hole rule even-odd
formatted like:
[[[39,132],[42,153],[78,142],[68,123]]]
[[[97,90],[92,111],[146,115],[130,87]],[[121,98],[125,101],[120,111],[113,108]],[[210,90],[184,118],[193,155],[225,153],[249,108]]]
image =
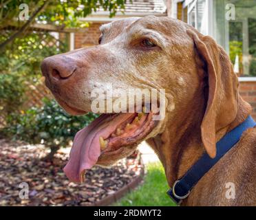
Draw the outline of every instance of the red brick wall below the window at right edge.
[[[253,108],[252,116],[256,120],[256,82],[240,82],[239,94]]]

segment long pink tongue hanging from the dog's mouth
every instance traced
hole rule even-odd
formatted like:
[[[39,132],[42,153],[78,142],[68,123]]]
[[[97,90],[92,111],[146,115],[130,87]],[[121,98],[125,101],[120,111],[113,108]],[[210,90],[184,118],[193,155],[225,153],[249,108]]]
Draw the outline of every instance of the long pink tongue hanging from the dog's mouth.
[[[99,137],[109,137],[119,124],[133,117],[134,113],[119,115],[100,115],[89,126],[81,129],[74,137],[70,151],[70,160],[64,167],[64,172],[70,181],[85,181],[85,170],[92,168],[100,156]]]

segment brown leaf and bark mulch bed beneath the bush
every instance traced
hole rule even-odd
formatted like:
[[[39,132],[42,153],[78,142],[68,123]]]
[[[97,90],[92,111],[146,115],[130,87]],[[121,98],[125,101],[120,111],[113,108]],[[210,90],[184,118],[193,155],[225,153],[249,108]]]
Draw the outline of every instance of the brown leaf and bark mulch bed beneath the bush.
[[[63,173],[70,149],[58,151],[52,162],[43,162],[40,158],[47,151],[41,144],[0,140],[0,206],[92,206],[142,170],[140,154],[135,153],[111,168],[95,166],[87,171],[85,183],[74,184]],[[20,198],[23,186],[29,188],[28,199]]]

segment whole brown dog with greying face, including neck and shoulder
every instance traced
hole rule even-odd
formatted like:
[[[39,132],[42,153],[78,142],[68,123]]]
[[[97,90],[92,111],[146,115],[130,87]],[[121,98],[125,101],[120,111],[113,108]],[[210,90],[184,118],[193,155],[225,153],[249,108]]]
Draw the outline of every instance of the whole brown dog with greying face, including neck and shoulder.
[[[85,114],[91,111],[92,90],[112,83],[114,88],[164,88],[165,117],[156,123],[151,113],[142,115],[143,123],[132,131],[136,135],[124,131],[116,137],[117,124],[134,123],[136,115],[100,115],[74,138],[65,167],[72,181],[83,181],[94,164],[111,166],[146,140],[171,187],[204,152],[214,158],[216,142],[250,115],[228,55],[191,25],[149,16],[103,24],[100,31],[99,45],[42,62],[45,84],[61,107],[72,115]],[[255,158],[256,129],[251,128],[198,181],[182,206],[255,206]],[[235,198],[225,196],[227,183],[234,184]]]

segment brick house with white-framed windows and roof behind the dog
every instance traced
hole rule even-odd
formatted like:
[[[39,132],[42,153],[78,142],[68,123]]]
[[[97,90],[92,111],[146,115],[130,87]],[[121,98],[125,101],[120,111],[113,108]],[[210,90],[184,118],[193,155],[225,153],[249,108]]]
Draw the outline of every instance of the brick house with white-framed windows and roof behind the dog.
[[[239,76],[239,91],[253,107],[256,119],[256,1],[253,0],[133,0],[127,1],[125,14],[99,10],[83,18],[89,28],[70,35],[71,49],[98,44],[99,26],[125,17],[147,15],[180,19],[210,35],[230,55]]]

